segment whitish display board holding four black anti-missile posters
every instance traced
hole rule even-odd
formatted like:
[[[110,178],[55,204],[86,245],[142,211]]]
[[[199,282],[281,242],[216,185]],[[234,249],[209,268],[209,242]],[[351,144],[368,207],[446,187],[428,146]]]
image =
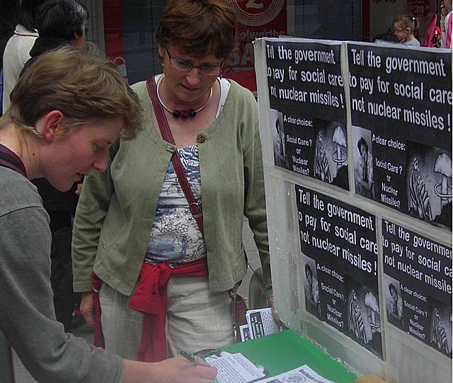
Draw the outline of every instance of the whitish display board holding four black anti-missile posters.
[[[452,56],[256,42],[271,268],[285,323],[387,382],[452,374]]]

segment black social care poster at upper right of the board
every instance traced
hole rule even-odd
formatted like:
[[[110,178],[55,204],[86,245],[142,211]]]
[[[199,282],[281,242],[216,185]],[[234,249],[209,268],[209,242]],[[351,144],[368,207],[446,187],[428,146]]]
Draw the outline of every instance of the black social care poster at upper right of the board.
[[[452,54],[348,45],[355,193],[452,229]]]

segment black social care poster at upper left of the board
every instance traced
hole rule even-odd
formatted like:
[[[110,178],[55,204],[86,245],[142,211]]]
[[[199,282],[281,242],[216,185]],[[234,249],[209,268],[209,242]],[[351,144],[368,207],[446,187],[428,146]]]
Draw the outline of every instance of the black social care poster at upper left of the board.
[[[275,166],[349,190],[339,42],[266,42]]]

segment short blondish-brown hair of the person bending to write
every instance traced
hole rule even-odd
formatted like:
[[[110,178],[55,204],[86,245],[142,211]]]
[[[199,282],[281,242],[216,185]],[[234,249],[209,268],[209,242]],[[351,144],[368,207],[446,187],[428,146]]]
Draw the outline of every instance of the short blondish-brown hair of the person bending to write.
[[[38,135],[35,123],[52,110],[63,113],[68,132],[94,119],[120,116],[124,121],[121,137],[132,139],[142,123],[137,95],[115,63],[69,46],[40,55],[21,76],[0,129],[13,122]]]

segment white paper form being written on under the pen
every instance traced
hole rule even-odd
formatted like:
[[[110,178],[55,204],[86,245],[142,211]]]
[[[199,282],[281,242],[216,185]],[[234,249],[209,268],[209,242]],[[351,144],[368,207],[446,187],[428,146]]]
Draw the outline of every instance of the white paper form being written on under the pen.
[[[248,383],[264,377],[263,370],[253,365],[241,353],[207,361],[217,368],[217,383]]]

